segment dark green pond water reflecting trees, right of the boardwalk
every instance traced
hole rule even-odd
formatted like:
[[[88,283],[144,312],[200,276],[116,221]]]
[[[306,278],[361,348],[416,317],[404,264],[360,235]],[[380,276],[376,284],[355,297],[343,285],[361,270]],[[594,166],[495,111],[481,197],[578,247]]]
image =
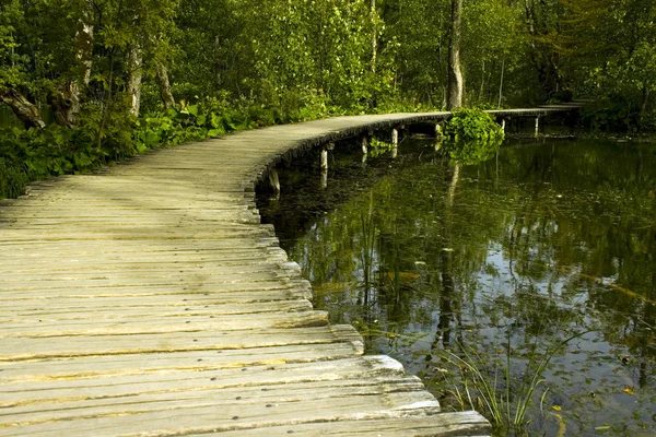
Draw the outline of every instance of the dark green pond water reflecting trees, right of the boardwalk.
[[[289,169],[260,211],[315,306],[368,353],[421,376],[444,410],[462,408],[456,357],[502,393],[509,368],[513,404],[550,357],[530,435],[656,435],[654,145],[511,142],[455,166],[415,141],[331,165],[325,189],[315,157]]]

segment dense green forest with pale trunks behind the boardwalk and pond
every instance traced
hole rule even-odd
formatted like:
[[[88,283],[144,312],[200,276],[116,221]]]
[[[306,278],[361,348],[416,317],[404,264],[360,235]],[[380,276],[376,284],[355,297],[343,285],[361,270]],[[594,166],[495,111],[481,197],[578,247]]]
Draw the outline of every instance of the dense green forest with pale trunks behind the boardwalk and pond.
[[[0,0],[0,193],[160,144],[340,114],[586,98],[594,128],[652,130],[654,4]]]

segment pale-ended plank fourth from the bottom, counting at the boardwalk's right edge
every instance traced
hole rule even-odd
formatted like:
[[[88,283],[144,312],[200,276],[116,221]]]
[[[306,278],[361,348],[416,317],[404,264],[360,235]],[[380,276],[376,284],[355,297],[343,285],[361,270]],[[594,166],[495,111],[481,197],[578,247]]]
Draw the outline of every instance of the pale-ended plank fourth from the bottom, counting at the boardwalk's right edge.
[[[355,356],[353,350],[349,350],[349,353]],[[366,382],[368,378],[388,381],[391,377],[411,378],[405,375],[398,362],[384,355],[372,355],[302,364],[289,364],[279,359],[276,365],[266,366],[153,371],[140,375],[103,374],[79,379],[16,379],[0,385],[0,408],[62,402],[66,399],[122,398],[140,393],[200,389],[258,387],[266,391],[273,386],[302,385],[308,381],[359,383],[352,381]]]

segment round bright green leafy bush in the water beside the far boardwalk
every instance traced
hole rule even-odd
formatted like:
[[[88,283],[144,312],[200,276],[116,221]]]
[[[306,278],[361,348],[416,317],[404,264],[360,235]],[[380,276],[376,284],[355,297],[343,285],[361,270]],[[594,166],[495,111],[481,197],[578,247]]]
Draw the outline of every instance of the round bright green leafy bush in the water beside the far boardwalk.
[[[443,150],[464,164],[489,160],[503,142],[504,132],[492,116],[479,109],[454,114],[444,128]]]

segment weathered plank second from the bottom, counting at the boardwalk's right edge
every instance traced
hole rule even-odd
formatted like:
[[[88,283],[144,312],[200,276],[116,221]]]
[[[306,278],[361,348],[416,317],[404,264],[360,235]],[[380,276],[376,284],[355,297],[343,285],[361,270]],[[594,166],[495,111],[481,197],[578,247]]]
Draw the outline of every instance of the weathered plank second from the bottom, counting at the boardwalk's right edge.
[[[422,408],[435,414],[438,405],[425,391],[374,392],[349,395],[349,390],[328,393],[316,399],[292,398],[289,402],[272,403],[270,399],[247,402],[244,399],[221,402],[213,398],[199,400],[162,401],[156,404],[127,404],[113,411],[109,405],[91,410],[89,415],[69,416],[69,420],[48,420],[36,416],[34,422],[9,422],[0,428],[3,436],[116,436],[116,435],[185,435],[214,429],[267,427],[303,422],[337,422],[380,417],[403,417],[408,411]],[[320,395],[321,393],[317,393]],[[244,402],[237,402],[244,401]],[[327,409],[326,405],[330,408]],[[270,405],[270,406],[267,406]],[[109,410],[109,413],[103,411]],[[61,410],[60,410],[61,411]],[[66,412],[62,411],[62,413]],[[145,434],[148,433],[148,434]],[[175,433],[175,434],[174,434]]]

